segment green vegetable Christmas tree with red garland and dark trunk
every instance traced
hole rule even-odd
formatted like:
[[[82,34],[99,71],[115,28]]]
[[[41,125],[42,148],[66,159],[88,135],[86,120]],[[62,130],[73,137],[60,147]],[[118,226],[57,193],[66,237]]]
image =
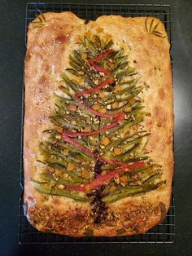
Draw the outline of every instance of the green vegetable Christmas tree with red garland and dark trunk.
[[[143,87],[124,49],[115,49],[111,40],[85,36],[70,54],[54,96],[53,129],[40,143],[37,161],[45,168],[33,177],[39,192],[89,202],[95,224],[106,218],[107,204],[164,183],[162,166],[146,151]]]

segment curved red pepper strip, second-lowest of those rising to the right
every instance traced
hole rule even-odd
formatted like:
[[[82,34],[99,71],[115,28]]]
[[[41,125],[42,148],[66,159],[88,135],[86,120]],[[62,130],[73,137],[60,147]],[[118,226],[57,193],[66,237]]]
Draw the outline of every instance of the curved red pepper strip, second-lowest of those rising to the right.
[[[116,121],[112,122],[110,125],[103,126],[103,128],[100,130],[94,130],[91,132],[73,132],[71,130],[63,130],[63,134],[68,135],[70,137],[98,135],[101,132],[112,129],[123,119],[124,119],[124,113],[120,113],[119,117],[116,117]]]

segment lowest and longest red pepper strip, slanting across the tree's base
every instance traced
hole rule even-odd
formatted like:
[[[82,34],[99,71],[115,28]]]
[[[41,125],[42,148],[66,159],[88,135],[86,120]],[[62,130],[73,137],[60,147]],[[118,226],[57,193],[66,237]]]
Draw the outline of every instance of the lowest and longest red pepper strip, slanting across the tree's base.
[[[85,184],[83,186],[65,186],[65,188],[69,189],[69,190],[76,190],[76,191],[81,191],[81,192],[89,191],[91,189],[98,188],[99,186],[102,186],[104,183],[109,183],[110,180],[116,176],[116,174],[120,174],[122,172],[126,172],[131,169],[134,169],[137,167],[142,167],[142,166],[145,166],[145,164],[143,162],[134,162],[134,163],[127,165],[126,167],[122,166],[118,169],[111,170],[107,174],[98,175],[98,177],[96,179],[93,179],[90,183]]]

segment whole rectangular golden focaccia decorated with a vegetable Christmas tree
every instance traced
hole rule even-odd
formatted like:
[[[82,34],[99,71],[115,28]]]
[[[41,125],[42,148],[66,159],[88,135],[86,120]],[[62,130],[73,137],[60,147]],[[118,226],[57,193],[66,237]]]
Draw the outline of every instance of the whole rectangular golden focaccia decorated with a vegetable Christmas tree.
[[[28,27],[24,205],[42,232],[127,236],[172,194],[172,71],[164,24],[45,13]]]

